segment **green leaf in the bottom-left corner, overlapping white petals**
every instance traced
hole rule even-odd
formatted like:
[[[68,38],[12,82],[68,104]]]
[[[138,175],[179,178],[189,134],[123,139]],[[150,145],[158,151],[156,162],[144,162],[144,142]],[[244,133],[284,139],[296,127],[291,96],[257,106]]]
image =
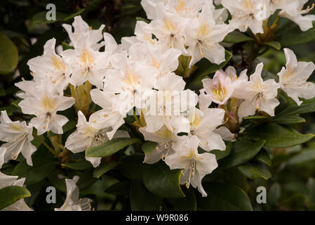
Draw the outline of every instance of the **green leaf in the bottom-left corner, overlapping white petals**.
[[[20,186],[7,186],[0,189],[0,210],[15,203],[16,201],[30,197],[31,193],[27,188]]]

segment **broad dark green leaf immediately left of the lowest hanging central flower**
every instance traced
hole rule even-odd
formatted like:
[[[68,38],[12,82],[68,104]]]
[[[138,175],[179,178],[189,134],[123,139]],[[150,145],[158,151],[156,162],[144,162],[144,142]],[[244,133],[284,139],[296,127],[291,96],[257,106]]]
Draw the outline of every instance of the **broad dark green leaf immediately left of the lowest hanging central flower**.
[[[143,172],[143,181],[147,189],[163,198],[182,198],[185,194],[180,188],[181,169],[172,169],[157,162]]]

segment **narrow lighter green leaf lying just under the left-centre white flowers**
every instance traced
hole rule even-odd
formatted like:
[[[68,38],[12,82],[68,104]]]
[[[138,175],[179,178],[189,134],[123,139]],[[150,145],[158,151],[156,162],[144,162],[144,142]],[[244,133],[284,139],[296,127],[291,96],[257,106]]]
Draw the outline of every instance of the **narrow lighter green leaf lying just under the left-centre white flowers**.
[[[140,139],[118,138],[102,143],[100,146],[86,148],[86,157],[106,157],[133,143],[140,143]]]

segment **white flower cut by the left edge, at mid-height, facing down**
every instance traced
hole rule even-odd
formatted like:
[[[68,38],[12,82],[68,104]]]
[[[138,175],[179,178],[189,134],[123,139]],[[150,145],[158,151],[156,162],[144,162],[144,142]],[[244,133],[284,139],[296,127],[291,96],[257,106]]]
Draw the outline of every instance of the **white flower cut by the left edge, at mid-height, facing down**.
[[[36,147],[31,141],[33,127],[27,126],[25,121],[11,121],[6,111],[1,112],[0,116],[0,141],[4,141],[2,146],[6,148],[4,162],[8,160],[16,160],[18,155],[22,153],[27,160],[27,164],[32,166],[32,154],[36,151]]]

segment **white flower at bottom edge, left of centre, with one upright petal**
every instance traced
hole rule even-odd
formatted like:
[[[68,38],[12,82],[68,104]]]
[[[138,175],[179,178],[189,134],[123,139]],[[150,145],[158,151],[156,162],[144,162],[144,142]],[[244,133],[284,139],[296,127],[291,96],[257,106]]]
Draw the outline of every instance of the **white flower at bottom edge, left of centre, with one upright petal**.
[[[76,186],[79,176],[74,176],[72,179],[65,179],[65,181],[67,198],[60,208],[55,208],[55,211],[91,211],[92,200],[90,198],[79,198],[79,188]]]

